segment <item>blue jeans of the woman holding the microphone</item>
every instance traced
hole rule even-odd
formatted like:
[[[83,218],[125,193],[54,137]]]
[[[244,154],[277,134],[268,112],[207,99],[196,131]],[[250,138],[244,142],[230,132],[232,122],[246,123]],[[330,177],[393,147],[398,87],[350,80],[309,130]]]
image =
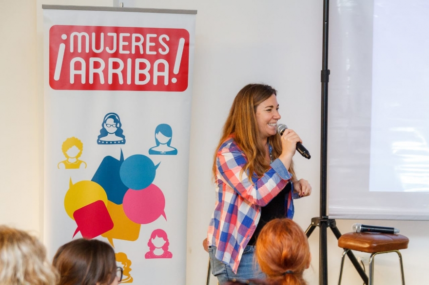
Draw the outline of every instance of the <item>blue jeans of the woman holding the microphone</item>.
[[[262,273],[259,265],[254,258],[254,246],[246,246],[243,255],[241,256],[240,265],[237,269],[237,274],[233,272],[231,267],[219,261],[216,255],[216,247],[209,247],[210,267],[212,274],[217,277],[217,281],[222,285],[228,281],[244,281],[249,279],[265,279],[266,275]]]

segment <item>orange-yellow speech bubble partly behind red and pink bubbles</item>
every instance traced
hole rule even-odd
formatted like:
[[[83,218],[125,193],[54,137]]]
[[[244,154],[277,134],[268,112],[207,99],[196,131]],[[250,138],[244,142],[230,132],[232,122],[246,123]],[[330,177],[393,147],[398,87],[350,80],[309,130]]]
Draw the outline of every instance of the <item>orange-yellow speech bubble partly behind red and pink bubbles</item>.
[[[137,240],[141,225],[133,222],[125,215],[122,204],[117,205],[111,201],[107,201],[107,211],[109,211],[114,226],[112,230],[101,234],[101,236],[106,237],[112,247],[114,247],[114,238],[129,241]]]

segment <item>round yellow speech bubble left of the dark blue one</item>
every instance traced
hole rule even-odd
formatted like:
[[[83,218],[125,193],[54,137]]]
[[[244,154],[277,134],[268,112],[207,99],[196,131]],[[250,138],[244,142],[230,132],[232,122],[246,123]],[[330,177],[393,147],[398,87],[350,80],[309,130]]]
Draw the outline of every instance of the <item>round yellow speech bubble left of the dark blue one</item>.
[[[65,212],[73,220],[73,213],[82,207],[85,207],[95,201],[101,200],[107,207],[107,194],[98,183],[90,180],[72,183],[70,178],[70,188],[64,197]]]

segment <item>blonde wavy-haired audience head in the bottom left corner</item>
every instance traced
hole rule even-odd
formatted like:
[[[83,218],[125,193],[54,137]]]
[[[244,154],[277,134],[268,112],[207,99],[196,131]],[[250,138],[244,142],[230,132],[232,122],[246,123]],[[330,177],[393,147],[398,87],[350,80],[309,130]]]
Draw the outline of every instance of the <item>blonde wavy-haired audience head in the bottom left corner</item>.
[[[0,226],[0,284],[55,285],[58,274],[34,236]]]

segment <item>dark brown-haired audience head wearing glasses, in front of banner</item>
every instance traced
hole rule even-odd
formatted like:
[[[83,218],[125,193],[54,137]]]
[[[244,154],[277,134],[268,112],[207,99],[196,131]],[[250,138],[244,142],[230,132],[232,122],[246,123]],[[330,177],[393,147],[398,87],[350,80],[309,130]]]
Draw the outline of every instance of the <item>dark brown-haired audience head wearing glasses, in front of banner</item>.
[[[66,243],[55,254],[53,265],[59,271],[58,285],[117,285],[122,278],[115,251],[97,239]]]

